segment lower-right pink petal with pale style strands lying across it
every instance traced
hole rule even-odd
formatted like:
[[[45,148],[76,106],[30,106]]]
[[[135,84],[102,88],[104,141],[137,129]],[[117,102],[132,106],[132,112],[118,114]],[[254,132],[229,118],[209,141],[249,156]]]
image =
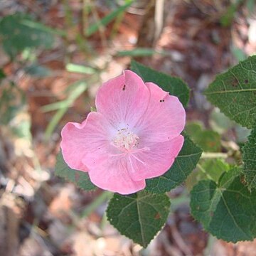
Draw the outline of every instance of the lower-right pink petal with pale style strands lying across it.
[[[149,151],[134,153],[130,156],[129,174],[134,181],[154,178],[168,171],[183,146],[182,135],[168,142],[148,144]]]

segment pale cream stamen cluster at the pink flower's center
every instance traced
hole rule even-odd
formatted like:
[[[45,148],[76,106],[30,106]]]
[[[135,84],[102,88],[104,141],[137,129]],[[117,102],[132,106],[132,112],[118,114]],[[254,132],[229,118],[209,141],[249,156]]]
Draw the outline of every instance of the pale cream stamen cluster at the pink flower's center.
[[[113,139],[113,144],[118,149],[130,151],[139,144],[139,137],[127,128],[119,129]]]

